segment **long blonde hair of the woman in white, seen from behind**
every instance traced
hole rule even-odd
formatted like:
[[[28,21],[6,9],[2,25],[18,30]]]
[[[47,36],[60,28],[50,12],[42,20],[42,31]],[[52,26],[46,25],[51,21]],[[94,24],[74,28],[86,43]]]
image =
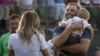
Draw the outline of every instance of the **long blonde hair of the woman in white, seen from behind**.
[[[26,11],[21,16],[19,27],[16,30],[23,42],[31,43],[31,37],[40,26],[40,18],[34,11]]]

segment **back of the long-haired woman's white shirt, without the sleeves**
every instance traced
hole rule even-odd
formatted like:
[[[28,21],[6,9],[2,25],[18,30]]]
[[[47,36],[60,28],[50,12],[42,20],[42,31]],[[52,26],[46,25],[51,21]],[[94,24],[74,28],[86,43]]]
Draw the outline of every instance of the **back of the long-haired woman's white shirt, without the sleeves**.
[[[10,36],[9,48],[15,51],[15,56],[41,56],[39,37],[33,34],[31,38],[32,43],[23,43],[17,33]]]

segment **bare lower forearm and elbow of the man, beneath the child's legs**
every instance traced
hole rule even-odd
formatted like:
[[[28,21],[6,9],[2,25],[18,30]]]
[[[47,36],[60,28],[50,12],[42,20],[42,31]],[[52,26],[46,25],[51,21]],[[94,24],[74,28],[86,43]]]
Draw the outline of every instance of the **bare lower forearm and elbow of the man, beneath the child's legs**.
[[[62,49],[71,53],[80,53],[80,52],[86,52],[88,50],[89,45],[90,45],[90,39],[83,38],[80,40],[80,43],[70,46],[66,45],[62,47]]]

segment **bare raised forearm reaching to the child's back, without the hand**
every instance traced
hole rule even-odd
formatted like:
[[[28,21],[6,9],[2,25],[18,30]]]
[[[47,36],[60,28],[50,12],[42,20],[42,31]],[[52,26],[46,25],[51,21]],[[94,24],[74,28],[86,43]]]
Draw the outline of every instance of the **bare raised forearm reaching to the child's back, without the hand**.
[[[56,48],[60,48],[62,44],[67,40],[71,32],[72,32],[72,29],[70,27],[69,28],[66,27],[65,30],[61,34],[59,35],[57,34],[56,36],[54,36],[52,39],[54,46]]]

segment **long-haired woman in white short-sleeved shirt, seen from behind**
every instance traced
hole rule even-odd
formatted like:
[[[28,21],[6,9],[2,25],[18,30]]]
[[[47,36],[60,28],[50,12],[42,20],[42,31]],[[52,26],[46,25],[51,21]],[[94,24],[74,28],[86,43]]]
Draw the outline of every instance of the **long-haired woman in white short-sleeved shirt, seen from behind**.
[[[46,41],[38,29],[40,18],[36,12],[25,12],[16,33],[10,35],[9,56],[50,56]]]

